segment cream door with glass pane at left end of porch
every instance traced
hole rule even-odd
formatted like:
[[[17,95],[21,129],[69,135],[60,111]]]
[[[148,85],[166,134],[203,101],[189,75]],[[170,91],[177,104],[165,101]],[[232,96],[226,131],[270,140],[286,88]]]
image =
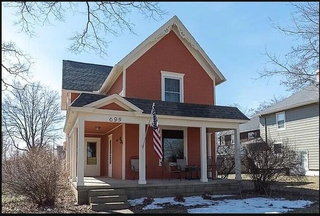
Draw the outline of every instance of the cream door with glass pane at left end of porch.
[[[100,175],[100,138],[84,139],[84,175]]]

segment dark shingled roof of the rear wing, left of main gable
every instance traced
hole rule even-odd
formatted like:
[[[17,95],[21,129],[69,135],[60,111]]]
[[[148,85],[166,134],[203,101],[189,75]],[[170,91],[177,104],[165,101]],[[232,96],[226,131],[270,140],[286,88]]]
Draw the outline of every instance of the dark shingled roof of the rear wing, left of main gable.
[[[62,88],[80,91],[99,90],[111,66],[62,60]]]

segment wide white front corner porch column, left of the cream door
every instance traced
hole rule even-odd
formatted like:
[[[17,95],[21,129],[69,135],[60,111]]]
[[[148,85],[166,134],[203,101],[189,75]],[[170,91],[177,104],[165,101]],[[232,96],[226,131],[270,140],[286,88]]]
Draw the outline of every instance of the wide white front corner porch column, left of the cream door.
[[[78,119],[78,154],[76,185],[83,185],[84,176],[84,120]]]

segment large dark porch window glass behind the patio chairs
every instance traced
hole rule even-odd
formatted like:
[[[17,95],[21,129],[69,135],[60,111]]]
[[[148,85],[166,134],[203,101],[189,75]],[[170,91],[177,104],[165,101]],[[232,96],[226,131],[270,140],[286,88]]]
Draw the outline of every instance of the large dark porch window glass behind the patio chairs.
[[[183,130],[162,129],[163,160],[176,162],[184,158]]]

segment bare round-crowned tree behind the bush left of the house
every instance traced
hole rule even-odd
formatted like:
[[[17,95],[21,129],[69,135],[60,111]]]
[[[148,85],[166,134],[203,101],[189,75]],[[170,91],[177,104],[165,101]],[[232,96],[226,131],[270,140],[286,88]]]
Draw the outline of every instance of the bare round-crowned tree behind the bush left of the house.
[[[57,91],[40,83],[31,83],[22,89],[14,82],[11,94],[2,100],[2,130],[9,135],[12,144],[20,150],[31,150],[48,145],[61,136],[64,115],[60,110]],[[26,145],[20,148],[19,143]]]

